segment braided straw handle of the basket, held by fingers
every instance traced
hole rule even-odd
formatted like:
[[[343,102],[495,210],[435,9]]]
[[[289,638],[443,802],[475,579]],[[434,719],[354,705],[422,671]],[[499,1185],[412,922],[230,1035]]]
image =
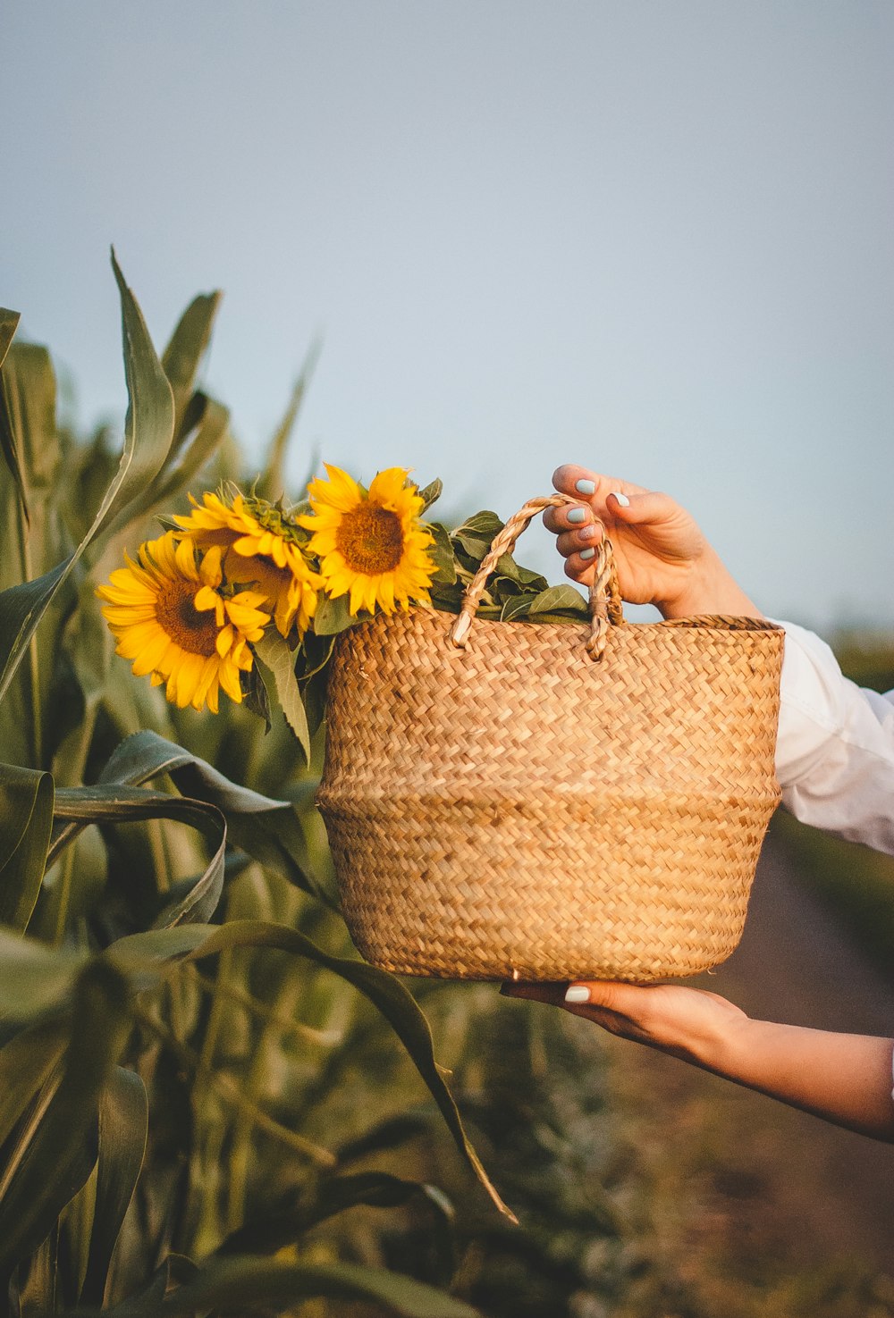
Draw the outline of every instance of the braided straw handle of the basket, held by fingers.
[[[484,588],[488,584],[488,577],[496,568],[497,563],[504,554],[512,554],[516,547],[516,540],[530,523],[531,518],[542,513],[545,507],[564,507],[567,503],[580,503],[580,500],[572,498],[570,494],[547,494],[542,498],[533,498],[521,507],[514,517],[510,517],[502,531],[497,531],[494,535],[491,548],[481,560],[481,565],[475,573],[472,581],[469,581],[465,588],[465,594],[463,597],[463,606],[459,612],[459,617],[454,623],[450,639],[452,643],[463,650],[468,639],[469,627],[472,626],[472,618],[477,612],[477,606],[484,594]],[[587,638],[587,654],[591,659],[601,659],[605,651],[605,642],[608,641],[609,626],[621,626],[624,622],[624,610],[621,606],[621,590],[617,580],[617,568],[614,565],[614,552],[612,550],[612,542],[608,536],[603,535],[601,544],[596,548],[596,556],[593,559],[595,573],[593,583],[589,588],[589,618],[591,630]]]

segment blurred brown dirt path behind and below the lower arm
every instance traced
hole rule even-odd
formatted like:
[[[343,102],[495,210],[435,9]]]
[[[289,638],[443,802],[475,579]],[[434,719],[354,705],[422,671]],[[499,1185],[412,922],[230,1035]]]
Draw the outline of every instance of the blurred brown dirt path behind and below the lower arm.
[[[692,983],[763,1019],[894,1035],[894,974],[885,981],[862,961],[773,842],[740,948]],[[672,1141],[692,1164],[700,1199],[688,1227],[694,1269],[704,1253],[728,1255],[744,1276],[836,1263],[894,1276],[894,1145],[620,1040],[611,1046],[650,1139],[663,1149]]]

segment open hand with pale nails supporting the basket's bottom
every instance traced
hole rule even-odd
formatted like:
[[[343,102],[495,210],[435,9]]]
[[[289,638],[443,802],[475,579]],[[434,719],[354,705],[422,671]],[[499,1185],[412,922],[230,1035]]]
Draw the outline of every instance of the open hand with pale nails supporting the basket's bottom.
[[[682,985],[629,985],[575,981],[572,985],[505,983],[508,998],[530,998],[564,1007],[621,1039],[713,1069],[717,1054],[748,1016],[725,998]]]

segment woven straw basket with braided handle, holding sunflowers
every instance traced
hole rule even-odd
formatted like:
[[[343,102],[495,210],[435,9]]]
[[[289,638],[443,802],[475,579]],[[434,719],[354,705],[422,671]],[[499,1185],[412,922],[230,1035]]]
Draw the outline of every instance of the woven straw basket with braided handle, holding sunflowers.
[[[319,808],[357,948],[401,974],[695,974],[738,942],[774,776],[782,631],[626,623],[611,544],[592,629],[380,616],[336,643]]]

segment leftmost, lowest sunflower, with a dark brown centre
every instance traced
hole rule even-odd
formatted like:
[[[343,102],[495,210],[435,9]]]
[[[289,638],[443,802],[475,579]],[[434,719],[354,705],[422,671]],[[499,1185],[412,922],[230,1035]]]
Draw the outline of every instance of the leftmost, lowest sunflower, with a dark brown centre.
[[[260,608],[262,594],[220,592],[222,552],[215,546],[196,561],[191,540],[167,531],[141,544],[136,563],[125,554],[127,567],[96,589],[107,601],[103,614],[117,654],[133,660],[137,677],[152,673],[153,687],[166,681],[166,696],[179,709],[202,709],[207,701],[216,714],[222,687],[241,701],[239,673],[253,662],[248,643],[260,641],[270,621]]]

